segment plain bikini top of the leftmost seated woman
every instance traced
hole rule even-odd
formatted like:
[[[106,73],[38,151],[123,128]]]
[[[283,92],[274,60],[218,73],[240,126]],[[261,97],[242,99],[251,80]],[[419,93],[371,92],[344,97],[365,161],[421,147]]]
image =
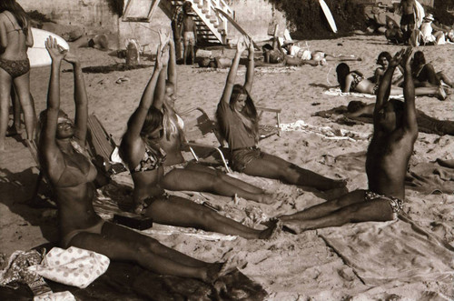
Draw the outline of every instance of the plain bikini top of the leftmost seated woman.
[[[79,146],[80,147],[80,146]],[[74,187],[80,186],[84,183],[93,182],[96,178],[96,167],[92,164],[92,162],[84,156],[77,147],[74,147],[76,152],[74,155],[69,156],[63,153],[64,157],[64,172],[62,176],[58,179],[55,183],[55,186],[58,187]],[[81,147],[82,148],[82,147]],[[76,159],[78,157],[79,159]],[[81,168],[81,161],[88,162],[88,170],[84,172]]]

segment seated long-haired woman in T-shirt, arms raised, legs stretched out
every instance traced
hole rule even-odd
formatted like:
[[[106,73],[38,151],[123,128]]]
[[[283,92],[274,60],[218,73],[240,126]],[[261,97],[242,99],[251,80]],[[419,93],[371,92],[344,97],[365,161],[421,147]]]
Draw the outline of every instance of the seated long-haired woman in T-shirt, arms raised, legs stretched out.
[[[244,85],[233,85],[240,57],[246,50],[247,43],[249,44],[249,55],[246,82]],[[244,42],[239,41],[237,44],[227,82],[216,111],[222,135],[229,143],[232,153],[233,170],[250,176],[279,179],[287,184],[311,186],[320,190],[344,187],[344,181],[320,176],[278,156],[266,154],[257,147],[259,120],[250,96],[254,73],[253,57],[252,41],[244,36]]]

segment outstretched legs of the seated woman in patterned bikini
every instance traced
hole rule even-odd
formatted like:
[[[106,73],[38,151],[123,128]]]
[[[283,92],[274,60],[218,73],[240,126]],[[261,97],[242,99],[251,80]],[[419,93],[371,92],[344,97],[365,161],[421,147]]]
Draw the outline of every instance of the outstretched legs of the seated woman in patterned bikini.
[[[270,239],[280,230],[278,224],[265,230],[255,230],[221,216],[212,209],[178,196],[154,200],[147,208],[146,215],[152,217],[159,224],[191,226],[225,235],[242,236],[247,239]]]

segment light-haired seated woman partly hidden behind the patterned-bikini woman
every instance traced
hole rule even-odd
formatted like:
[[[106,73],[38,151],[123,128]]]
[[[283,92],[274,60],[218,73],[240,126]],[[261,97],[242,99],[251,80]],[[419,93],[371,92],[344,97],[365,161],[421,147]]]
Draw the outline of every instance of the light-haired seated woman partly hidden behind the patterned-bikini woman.
[[[177,73],[173,40],[170,40],[170,59],[163,101],[157,99],[153,106],[163,111],[163,138],[159,145],[166,153],[163,162],[164,176],[160,185],[164,189],[210,192],[220,196],[240,196],[260,203],[273,202],[271,195],[256,186],[227,176],[220,171],[200,164],[186,163],[183,154],[183,119],[175,112]]]

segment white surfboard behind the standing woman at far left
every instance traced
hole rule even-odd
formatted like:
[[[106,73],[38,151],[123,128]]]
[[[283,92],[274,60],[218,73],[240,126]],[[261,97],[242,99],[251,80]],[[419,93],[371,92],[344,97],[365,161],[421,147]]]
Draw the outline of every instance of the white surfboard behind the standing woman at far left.
[[[47,49],[45,49],[45,40],[49,37],[49,35],[57,40],[58,45],[61,45],[62,47],[64,47],[64,49],[69,49],[68,43],[66,43],[66,41],[64,41],[64,38],[59,35],[55,35],[43,29],[33,27],[32,35],[34,42],[33,47],[28,48],[27,51],[31,67],[42,67],[44,65],[52,64],[52,59],[47,52]]]

